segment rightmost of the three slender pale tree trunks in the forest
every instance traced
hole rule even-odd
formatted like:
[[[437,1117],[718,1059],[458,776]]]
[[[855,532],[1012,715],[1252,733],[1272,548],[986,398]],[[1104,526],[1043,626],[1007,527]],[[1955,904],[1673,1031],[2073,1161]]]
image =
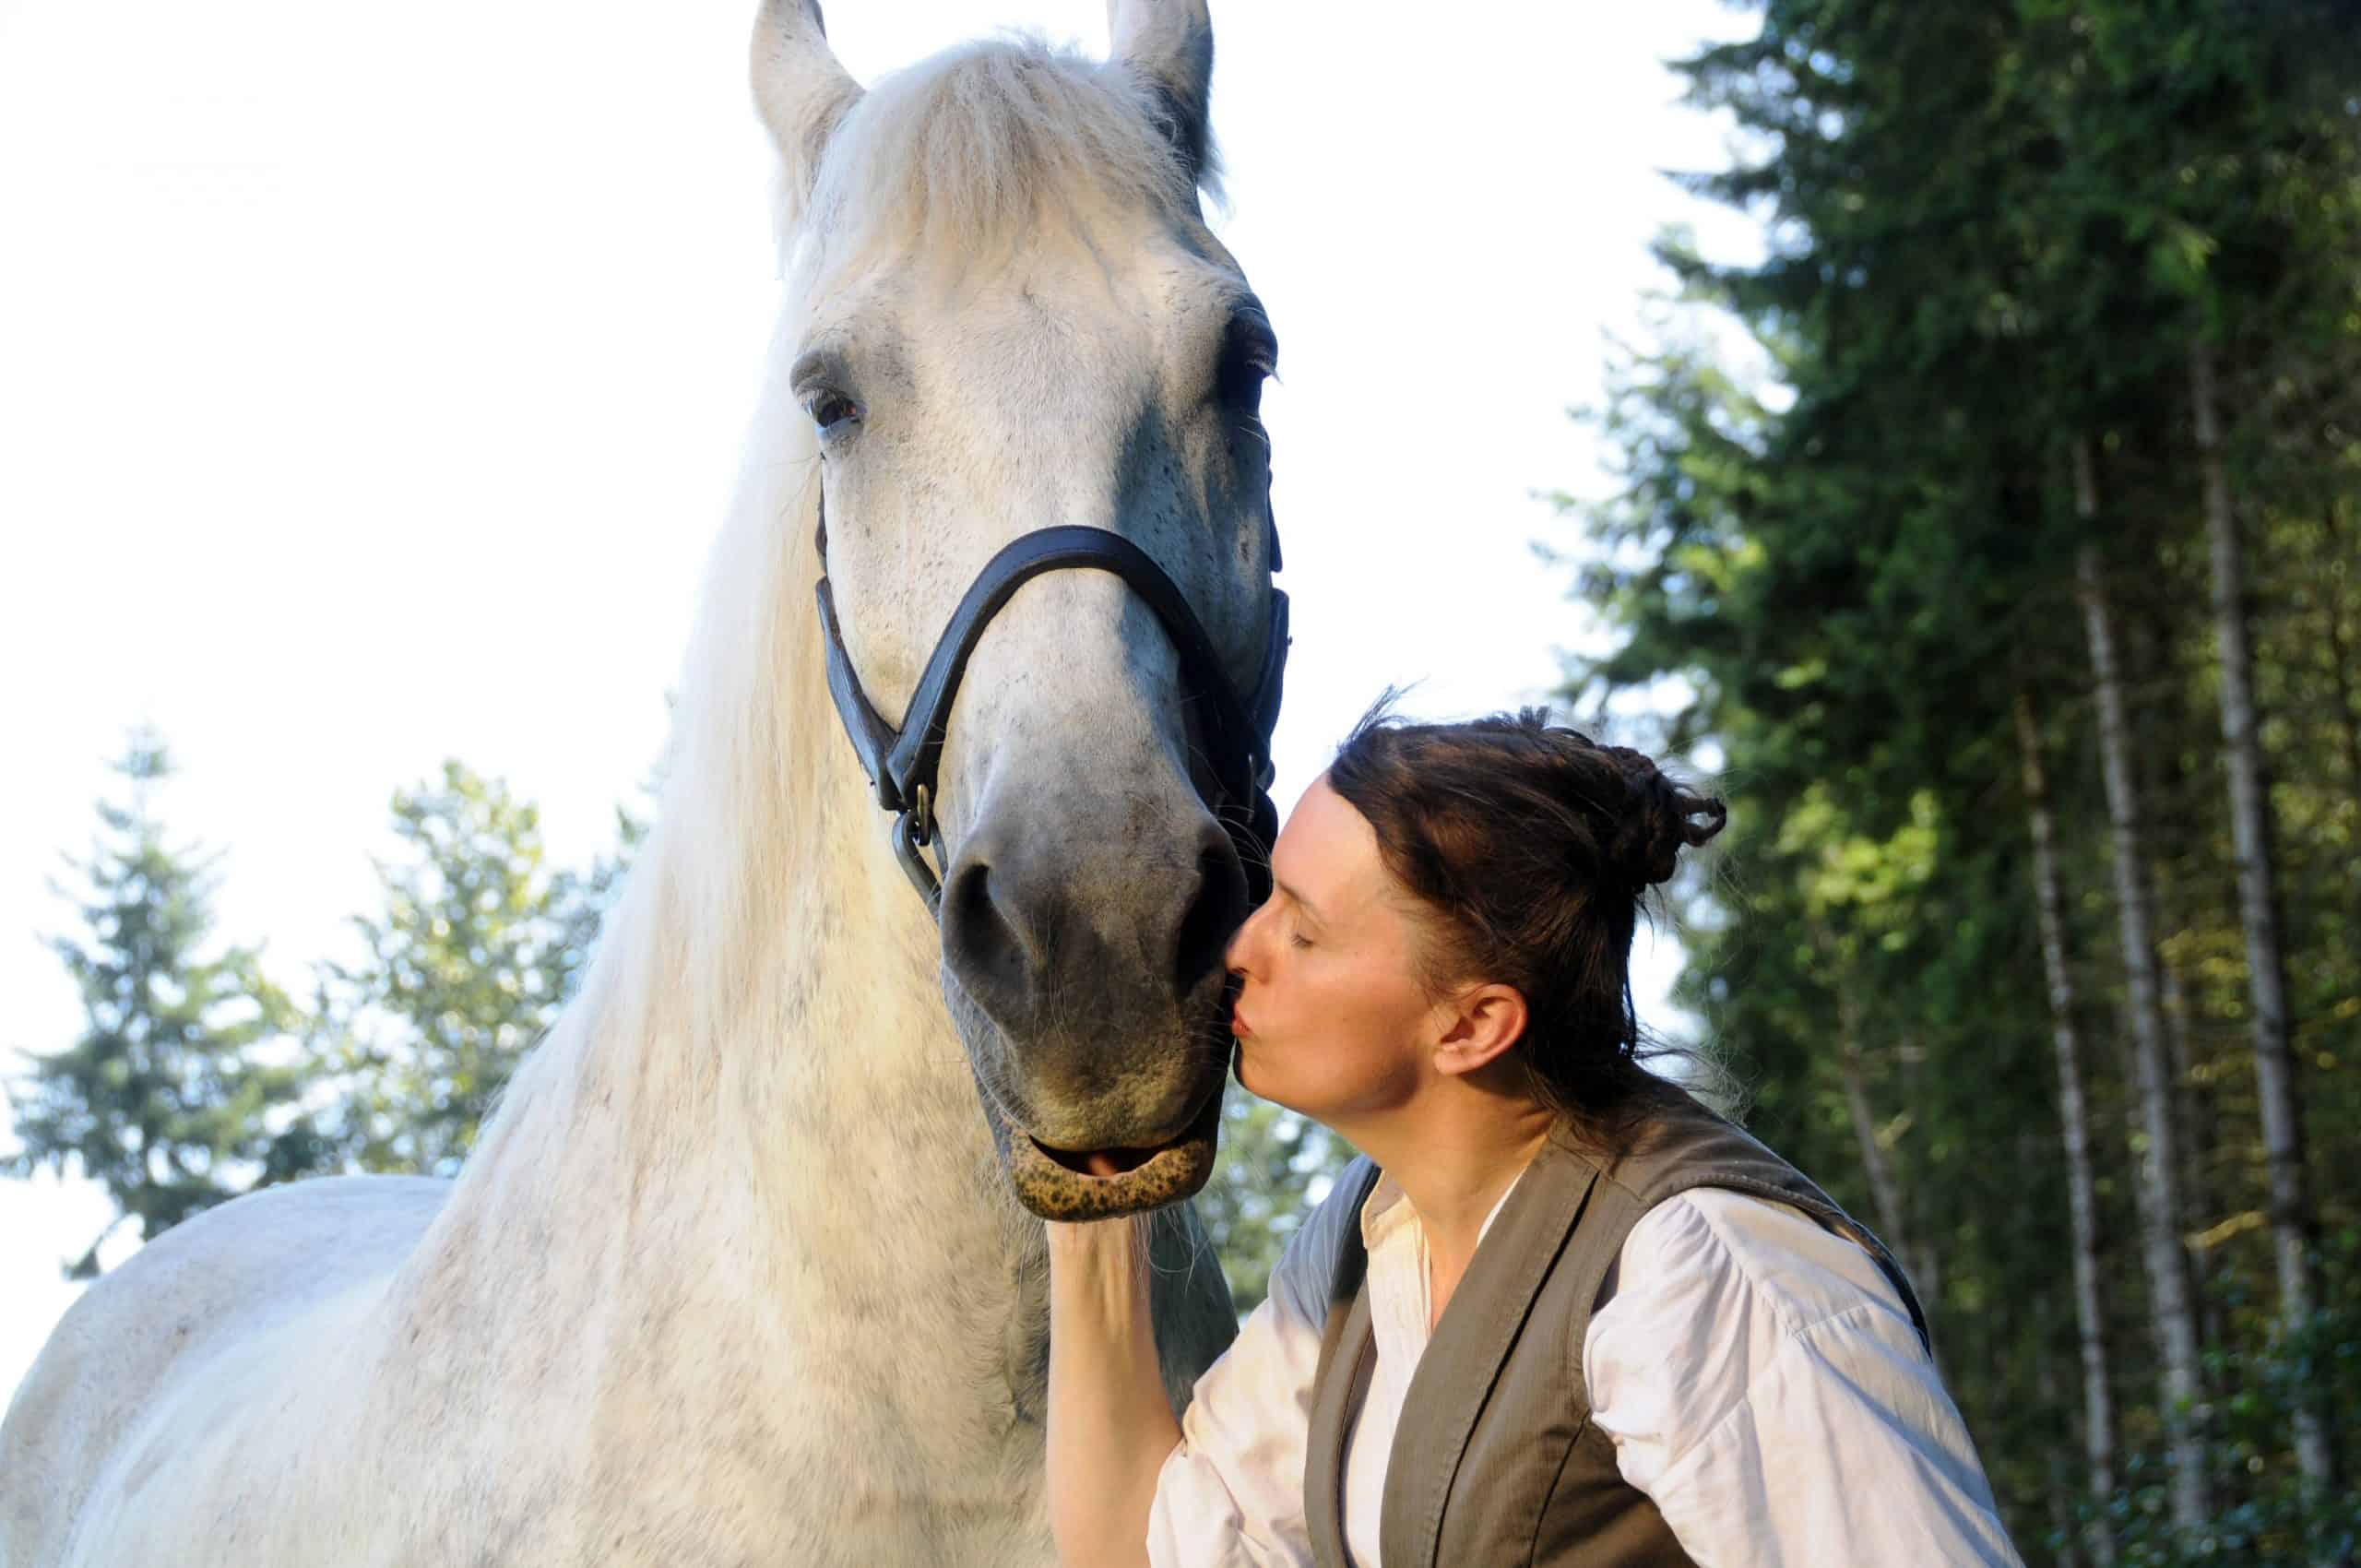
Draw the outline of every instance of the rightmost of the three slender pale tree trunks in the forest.
[[[2314,1219],[2311,1197],[2304,1193],[2304,1119],[2295,1108],[2295,1053],[2288,1048],[2288,961],[2278,942],[2271,796],[2262,765],[2262,718],[2255,711],[2255,656],[2245,635],[2245,560],[2238,520],[2229,505],[2229,468],[2222,460],[2212,345],[2203,340],[2189,349],[2189,401],[2196,411],[2198,465],[2205,479],[2215,645],[2222,656],[2222,760],[2229,772],[2238,923],[2245,928],[2245,980],[2255,1013],[2255,1098],[2262,1112],[2262,1159],[2271,1178],[2278,1318],[2293,1337],[2311,1322],[2319,1299],[2311,1275]],[[2295,1412],[2295,1459],[2314,1490],[2326,1492],[2333,1485],[2328,1410],[2319,1398]]]

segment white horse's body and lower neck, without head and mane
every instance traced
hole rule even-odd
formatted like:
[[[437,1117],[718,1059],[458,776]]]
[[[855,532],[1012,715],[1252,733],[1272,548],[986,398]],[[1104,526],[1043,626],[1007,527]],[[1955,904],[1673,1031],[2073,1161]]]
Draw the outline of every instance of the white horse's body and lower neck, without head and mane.
[[[633,1018],[595,999],[694,940],[633,930],[663,902],[649,845],[635,940],[453,1183],[264,1190],[76,1304],[9,1412],[0,1563],[1053,1561],[1039,1223],[930,997],[926,912],[850,831],[857,775],[836,793],[812,886],[869,963],[781,930],[711,1039],[571,1027]],[[1166,1214],[1178,1403],[1230,1322]]]

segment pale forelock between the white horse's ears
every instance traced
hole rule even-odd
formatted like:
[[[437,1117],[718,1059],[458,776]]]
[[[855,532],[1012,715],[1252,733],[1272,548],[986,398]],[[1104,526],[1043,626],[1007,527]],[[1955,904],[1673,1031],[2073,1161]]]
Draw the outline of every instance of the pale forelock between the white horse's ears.
[[[1206,149],[1192,179],[1159,113],[1117,61],[1029,35],[961,45],[878,78],[829,139],[810,203],[781,217],[826,267],[878,248],[987,255],[1091,198],[1192,213],[1197,187],[1221,196],[1218,165]]]

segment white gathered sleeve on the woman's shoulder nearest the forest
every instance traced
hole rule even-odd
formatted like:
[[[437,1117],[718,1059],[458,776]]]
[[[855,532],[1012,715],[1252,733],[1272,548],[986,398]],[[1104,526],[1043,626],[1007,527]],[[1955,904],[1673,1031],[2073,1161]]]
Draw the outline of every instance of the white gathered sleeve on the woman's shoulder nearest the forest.
[[[2021,1568],[1901,1296],[1787,1204],[1698,1188],[1624,1240],[1582,1348],[1591,1419],[1716,1568]]]

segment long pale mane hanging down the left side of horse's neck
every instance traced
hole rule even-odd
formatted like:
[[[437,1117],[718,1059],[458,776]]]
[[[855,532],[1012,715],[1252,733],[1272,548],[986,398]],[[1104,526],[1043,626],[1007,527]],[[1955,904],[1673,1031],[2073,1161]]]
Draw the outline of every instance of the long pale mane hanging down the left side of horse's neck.
[[[824,921],[812,907],[824,878],[807,871],[831,850],[824,746],[845,739],[819,675],[819,451],[786,387],[793,331],[789,305],[737,496],[706,560],[656,822],[607,912],[578,994],[519,1063],[479,1155],[498,1145],[527,1159],[527,1150],[552,1155],[588,1100],[616,1089],[633,1103],[640,1136],[706,1124],[682,1098],[746,1089],[722,1079],[760,1053],[730,1048],[730,1034],[779,1004],[779,987],[791,985],[777,973],[781,949],[807,945]],[[496,1159],[470,1159],[477,1164]]]

